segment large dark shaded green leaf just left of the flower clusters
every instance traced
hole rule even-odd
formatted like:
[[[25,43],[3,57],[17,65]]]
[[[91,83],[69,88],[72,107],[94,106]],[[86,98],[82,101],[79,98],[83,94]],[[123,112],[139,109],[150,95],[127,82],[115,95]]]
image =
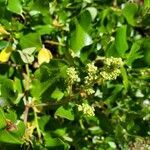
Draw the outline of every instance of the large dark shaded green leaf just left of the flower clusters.
[[[49,64],[43,64],[35,72],[32,82],[31,94],[36,98],[50,99],[51,93],[63,82],[58,80],[66,76],[66,65],[63,61],[52,60]]]

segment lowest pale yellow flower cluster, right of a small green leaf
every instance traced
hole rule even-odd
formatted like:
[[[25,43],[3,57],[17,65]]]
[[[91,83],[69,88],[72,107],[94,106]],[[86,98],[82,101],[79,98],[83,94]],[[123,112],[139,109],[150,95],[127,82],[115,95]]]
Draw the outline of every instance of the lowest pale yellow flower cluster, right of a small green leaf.
[[[85,103],[82,103],[81,105],[78,105],[78,111],[82,111],[84,115],[88,116],[88,117],[91,117],[91,116],[94,116],[94,107],[93,106],[90,106],[89,104],[85,104]]]

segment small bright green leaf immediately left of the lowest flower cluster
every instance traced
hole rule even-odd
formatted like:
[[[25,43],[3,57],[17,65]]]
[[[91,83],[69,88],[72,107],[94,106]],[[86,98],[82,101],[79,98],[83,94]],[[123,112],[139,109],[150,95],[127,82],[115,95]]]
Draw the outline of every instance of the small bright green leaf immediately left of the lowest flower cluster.
[[[62,118],[66,118],[68,120],[74,120],[74,114],[73,114],[73,110],[70,107],[59,107],[56,112],[55,112],[56,116],[60,116]]]

